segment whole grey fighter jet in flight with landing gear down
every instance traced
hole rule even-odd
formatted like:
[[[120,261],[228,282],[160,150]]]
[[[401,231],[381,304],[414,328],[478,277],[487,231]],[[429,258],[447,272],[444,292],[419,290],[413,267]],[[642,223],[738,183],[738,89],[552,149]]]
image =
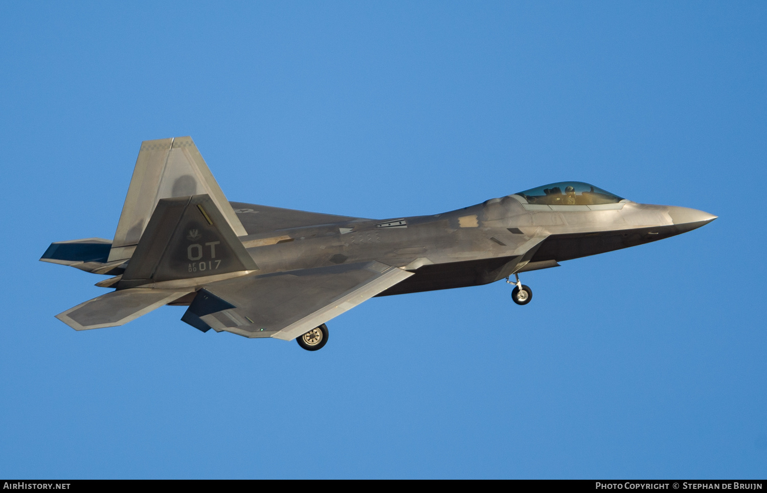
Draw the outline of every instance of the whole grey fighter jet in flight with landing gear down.
[[[54,242],[41,261],[111,278],[56,317],[75,330],[126,324],[165,304],[245,337],[328,342],[328,320],[374,296],[513,284],[522,272],[655,242],[716,219],[558,182],[434,215],[367,219],[229,202],[192,139],[147,140],[113,240]],[[514,280],[510,281],[511,276]]]

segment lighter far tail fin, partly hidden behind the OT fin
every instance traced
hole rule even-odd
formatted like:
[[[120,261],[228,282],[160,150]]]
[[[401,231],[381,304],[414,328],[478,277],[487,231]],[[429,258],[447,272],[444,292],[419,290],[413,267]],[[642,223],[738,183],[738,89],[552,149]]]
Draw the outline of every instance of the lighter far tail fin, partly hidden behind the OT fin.
[[[109,261],[130,258],[160,199],[207,194],[236,236],[247,233],[191,137],[145,140],[130,179]]]

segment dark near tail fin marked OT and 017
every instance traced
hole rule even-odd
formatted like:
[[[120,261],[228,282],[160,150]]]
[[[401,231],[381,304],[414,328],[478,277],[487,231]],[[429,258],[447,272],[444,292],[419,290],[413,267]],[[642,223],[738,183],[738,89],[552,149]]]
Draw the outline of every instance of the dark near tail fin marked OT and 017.
[[[209,195],[160,199],[117,288],[257,269]]]

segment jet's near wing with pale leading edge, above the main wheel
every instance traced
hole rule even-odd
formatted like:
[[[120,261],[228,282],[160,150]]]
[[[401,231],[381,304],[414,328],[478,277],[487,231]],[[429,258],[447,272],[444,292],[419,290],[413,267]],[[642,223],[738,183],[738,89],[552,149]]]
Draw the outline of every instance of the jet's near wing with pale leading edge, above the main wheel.
[[[206,331],[291,340],[413,275],[378,261],[206,284],[181,320]]]

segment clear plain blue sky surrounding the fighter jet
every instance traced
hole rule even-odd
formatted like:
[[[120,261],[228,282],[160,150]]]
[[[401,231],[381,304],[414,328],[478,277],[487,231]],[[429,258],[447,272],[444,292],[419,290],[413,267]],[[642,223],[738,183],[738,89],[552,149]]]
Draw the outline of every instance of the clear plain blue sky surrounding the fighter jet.
[[[0,473],[764,478],[761,2],[3,2]],[[77,333],[142,140],[230,200],[390,218],[581,180],[719,215],[504,283],[376,298],[323,350],[164,307]]]

